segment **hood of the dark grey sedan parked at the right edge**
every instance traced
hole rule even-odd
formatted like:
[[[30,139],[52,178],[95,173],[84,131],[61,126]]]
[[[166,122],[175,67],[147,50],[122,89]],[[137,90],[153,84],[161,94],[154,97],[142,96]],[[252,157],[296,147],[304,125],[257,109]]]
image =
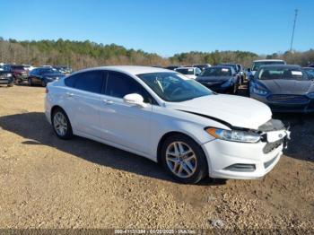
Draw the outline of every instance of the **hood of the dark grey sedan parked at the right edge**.
[[[314,82],[310,80],[259,80],[273,94],[302,95],[314,91]]]

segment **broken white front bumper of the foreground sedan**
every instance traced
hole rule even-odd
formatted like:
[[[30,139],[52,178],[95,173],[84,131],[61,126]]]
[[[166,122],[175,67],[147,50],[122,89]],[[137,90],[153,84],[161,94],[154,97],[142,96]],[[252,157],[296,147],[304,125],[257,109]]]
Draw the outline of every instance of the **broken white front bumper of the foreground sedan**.
[[[211,178],[262,178],[272,170],[290,139],[289,128],[280,120],[270,120],[259,126],[261,140],[257,143],[237,143],[215,139],[203,144]]]

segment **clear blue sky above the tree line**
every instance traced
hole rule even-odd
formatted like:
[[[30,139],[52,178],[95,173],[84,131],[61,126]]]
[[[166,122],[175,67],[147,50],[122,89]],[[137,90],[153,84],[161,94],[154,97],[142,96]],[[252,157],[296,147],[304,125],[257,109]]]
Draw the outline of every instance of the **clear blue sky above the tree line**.
[[[313,0],[0,0],[0,37],[115,43],[162,57],[314,48]]]

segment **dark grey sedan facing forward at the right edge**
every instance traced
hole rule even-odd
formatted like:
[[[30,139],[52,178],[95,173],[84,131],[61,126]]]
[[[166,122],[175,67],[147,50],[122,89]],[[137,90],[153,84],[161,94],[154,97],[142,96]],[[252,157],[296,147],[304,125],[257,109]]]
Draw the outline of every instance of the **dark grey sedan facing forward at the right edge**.
[[[299,65],[260,66],[250,83],[250,97],[275,112],[314,111],[314,82]]]

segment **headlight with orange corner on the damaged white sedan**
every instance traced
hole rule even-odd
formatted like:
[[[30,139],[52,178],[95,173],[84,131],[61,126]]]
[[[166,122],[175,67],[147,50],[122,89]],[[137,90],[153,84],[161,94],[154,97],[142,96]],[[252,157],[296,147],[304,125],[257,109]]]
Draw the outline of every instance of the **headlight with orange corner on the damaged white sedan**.
[[[260,140],[260,135],[248,131],[237,131],[237,130],[224,130],[209,127],[205,131],[209,135],[213,135],[217,139],[233,141],[233,142],[244,142],[244,143],[257,143]]]

